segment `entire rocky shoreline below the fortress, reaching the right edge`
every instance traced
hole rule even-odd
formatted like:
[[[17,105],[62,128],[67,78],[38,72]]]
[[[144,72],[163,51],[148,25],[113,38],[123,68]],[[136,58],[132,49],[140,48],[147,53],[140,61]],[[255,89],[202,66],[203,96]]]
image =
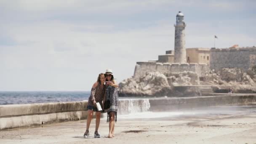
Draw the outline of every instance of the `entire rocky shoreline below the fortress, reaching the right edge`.
[[[200,78],[195,72],[147,72],[141,77],[131,77],[119,83],[120,96],[200,96],[196,88],[208,85],[213,93],[256,93],[256,67],[248,70],[223,68],[210,70]]]

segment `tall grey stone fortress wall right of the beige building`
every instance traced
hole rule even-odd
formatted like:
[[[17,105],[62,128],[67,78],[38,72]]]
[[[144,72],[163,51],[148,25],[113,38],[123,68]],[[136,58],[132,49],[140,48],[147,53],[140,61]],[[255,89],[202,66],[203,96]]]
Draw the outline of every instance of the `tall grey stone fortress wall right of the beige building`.
[[[256,48],[234,48],[234,49],[211,49],[210,68],[219,70],[221,68],[249,69],[256,65]]]

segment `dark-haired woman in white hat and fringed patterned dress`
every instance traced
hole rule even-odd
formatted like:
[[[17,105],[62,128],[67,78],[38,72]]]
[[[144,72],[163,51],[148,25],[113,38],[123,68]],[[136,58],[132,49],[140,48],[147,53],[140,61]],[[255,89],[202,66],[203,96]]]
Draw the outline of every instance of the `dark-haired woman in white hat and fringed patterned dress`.
[[[103,100],[103,107],[107,112],[107,122],[109,122],[109,138],[115,137],[114,128],[117,121],[117,108],[118,108],[118,93],[117,82],[114,80],[114,75],[111,69],[107,69],[106,73],[106,91]]]

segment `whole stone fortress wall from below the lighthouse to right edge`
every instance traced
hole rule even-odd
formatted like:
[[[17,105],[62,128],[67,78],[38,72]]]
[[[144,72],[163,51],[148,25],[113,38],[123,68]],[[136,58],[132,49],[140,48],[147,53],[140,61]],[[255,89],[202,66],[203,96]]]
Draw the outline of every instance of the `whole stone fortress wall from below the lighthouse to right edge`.
[[[173,55],[172,55],[173,56]],[[204,77],[210,70],[221,68],[249,69],[256,66],[256,48],[211,48],[210,64],[200,63],[164,63],[162,61],[137,62],[134,77],[140,77],[147,72],[161,72],[163,74],[191,71],[199,77]]]

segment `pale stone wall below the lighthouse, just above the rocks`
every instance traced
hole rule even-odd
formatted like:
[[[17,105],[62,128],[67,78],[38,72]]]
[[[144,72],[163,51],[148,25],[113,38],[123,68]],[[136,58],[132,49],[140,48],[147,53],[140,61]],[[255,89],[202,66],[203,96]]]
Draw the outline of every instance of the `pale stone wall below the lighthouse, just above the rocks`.
[[[141,77],[147,72],[161,72],[169,74],[173,72],[191,71],[196,72],[199,77],[203,77],[209,70],[208,64],[177,64],[177,63],[154,63],[154,62],[137,62],[134,77]]]

